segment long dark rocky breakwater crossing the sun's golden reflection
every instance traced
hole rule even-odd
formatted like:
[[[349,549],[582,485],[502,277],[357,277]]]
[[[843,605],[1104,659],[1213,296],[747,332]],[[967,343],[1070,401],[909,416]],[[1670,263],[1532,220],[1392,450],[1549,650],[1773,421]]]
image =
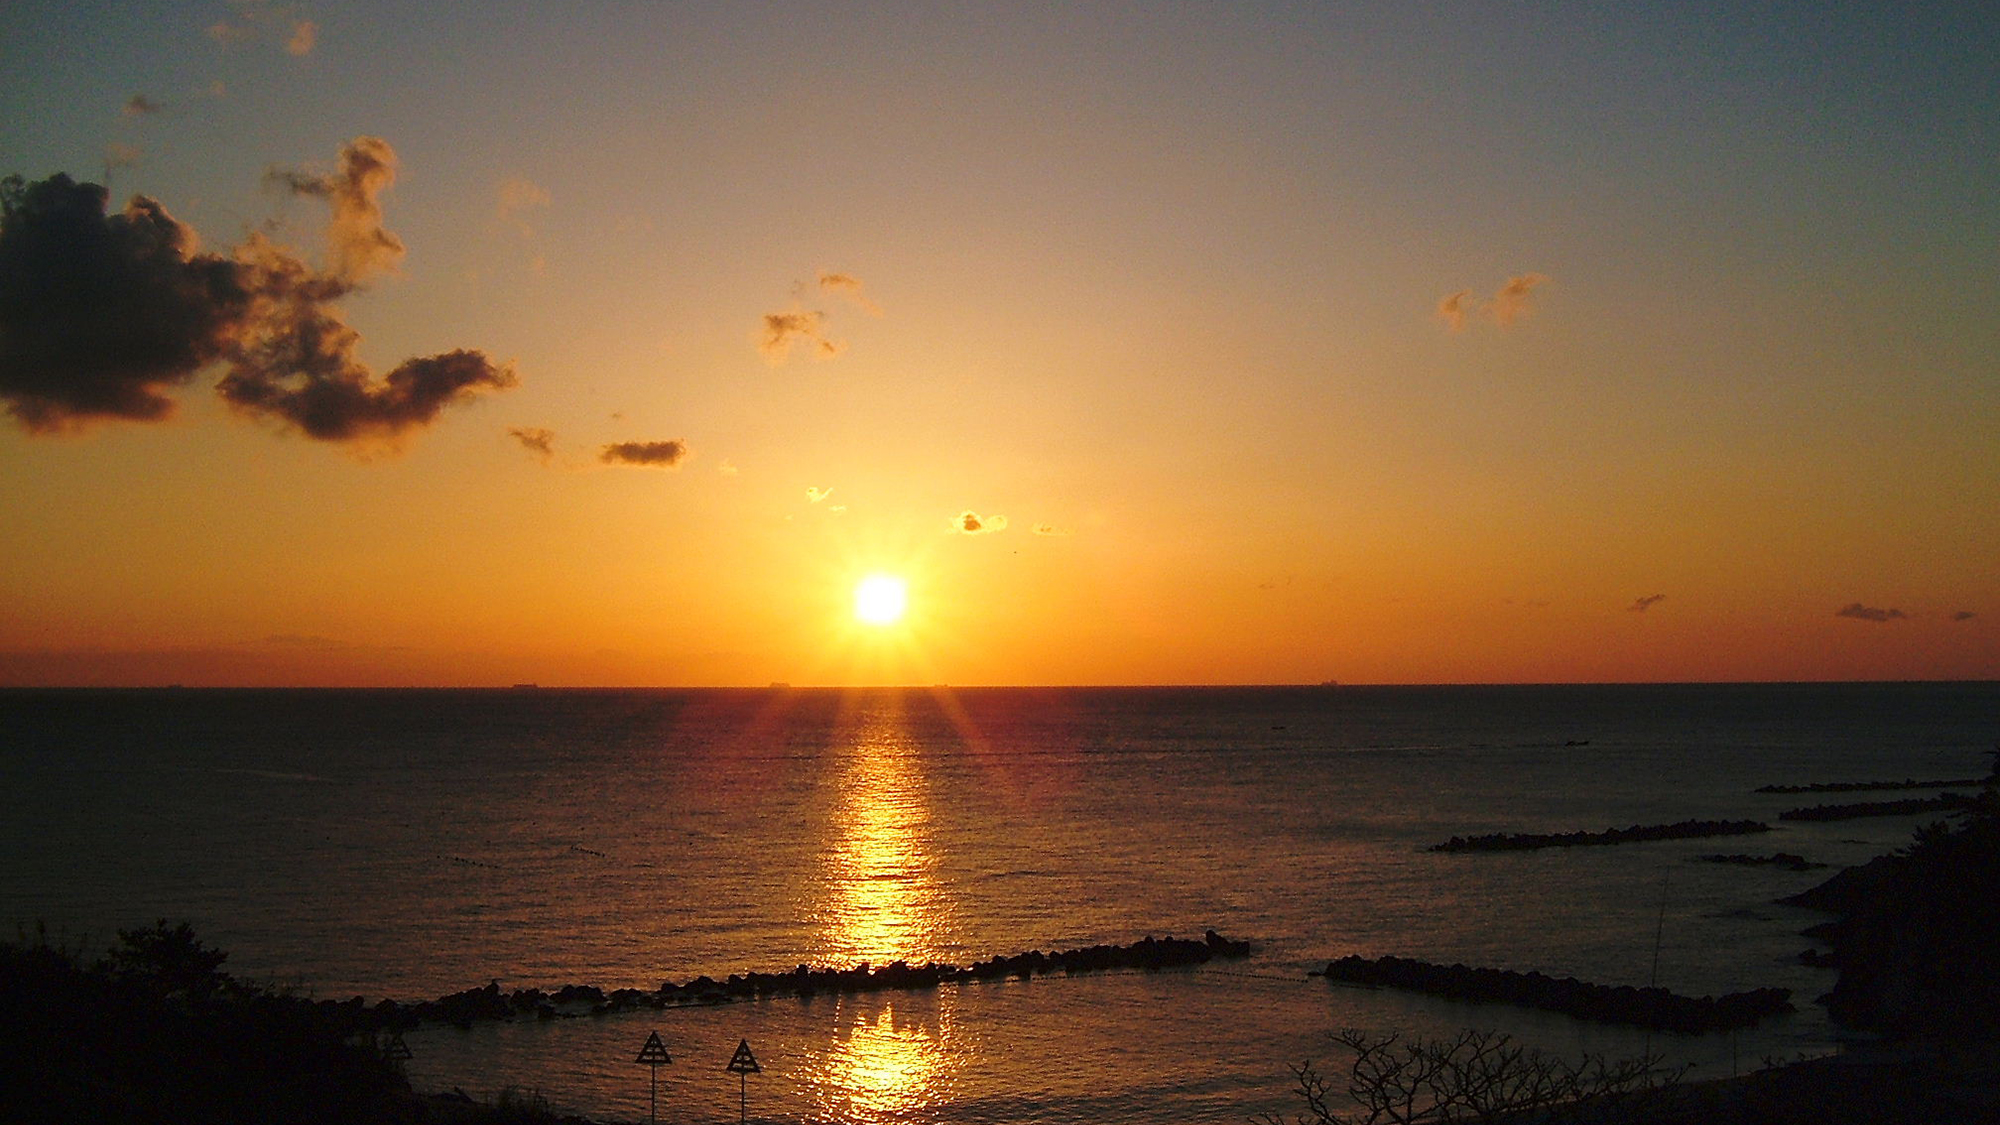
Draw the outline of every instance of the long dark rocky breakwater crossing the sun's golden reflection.
[[[972,965],[910,965],[890,961],[852,969],[798,965],[788,973],[730,973],[726,979],[696,977],[686,983],[664,981],[658,989],[614,989],[594,985],[564,985],[554,991],[502,991],[500,981],[466,989],[422,1003],[380,1001],[364,1007],[360,999],[324,1001],[350,1009],[378,1027],[414,1027],[424,1021],[472,1027],[496,1019],[568,1019],[612,1015],[620,1011],[664,1009],[690,1003],[730,1003],[770,997],[814,997],[818,993],[872,993],[884,989],[916,991],[952,983],[1028,979],[1052,973],[1102,973],[1110,969],[1180,969],[1216,959],[1250,955],[1248,941],[1230,941],[1208,931],[1200,941],[1184,937],[1146,937],[1130,945],[1088,945],[1082,949],[1028,951],[1012,957],[990,957]]]

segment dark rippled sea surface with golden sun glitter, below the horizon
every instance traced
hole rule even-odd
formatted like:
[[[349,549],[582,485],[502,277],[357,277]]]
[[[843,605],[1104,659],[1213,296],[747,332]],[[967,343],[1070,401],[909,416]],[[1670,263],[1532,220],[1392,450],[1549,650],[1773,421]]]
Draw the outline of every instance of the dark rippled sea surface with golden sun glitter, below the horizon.
[[[188,919],[238,977],[428,999],[498,979],[966,965],[1200,937],[1194,971],[424,1027],[418,1089],[644,1119],[1230,1121],[1298,1109],[1340,1027],[1510,1031],[1702,1073],[1834,1049],[1800,967],[1818,883],[1918,817],[1764,837],[1434,855],[1452,835],[1754,817],[1766,783],[1974,777],[2000,685],[1134,691],[0,693],[0,923]],[[1874,797],[1906,797],[1874,795]],[[1332,987],[1406,955],[1800,1011],[1674,1037]],[[748,1039],[762,1073],[724,1063]]]

